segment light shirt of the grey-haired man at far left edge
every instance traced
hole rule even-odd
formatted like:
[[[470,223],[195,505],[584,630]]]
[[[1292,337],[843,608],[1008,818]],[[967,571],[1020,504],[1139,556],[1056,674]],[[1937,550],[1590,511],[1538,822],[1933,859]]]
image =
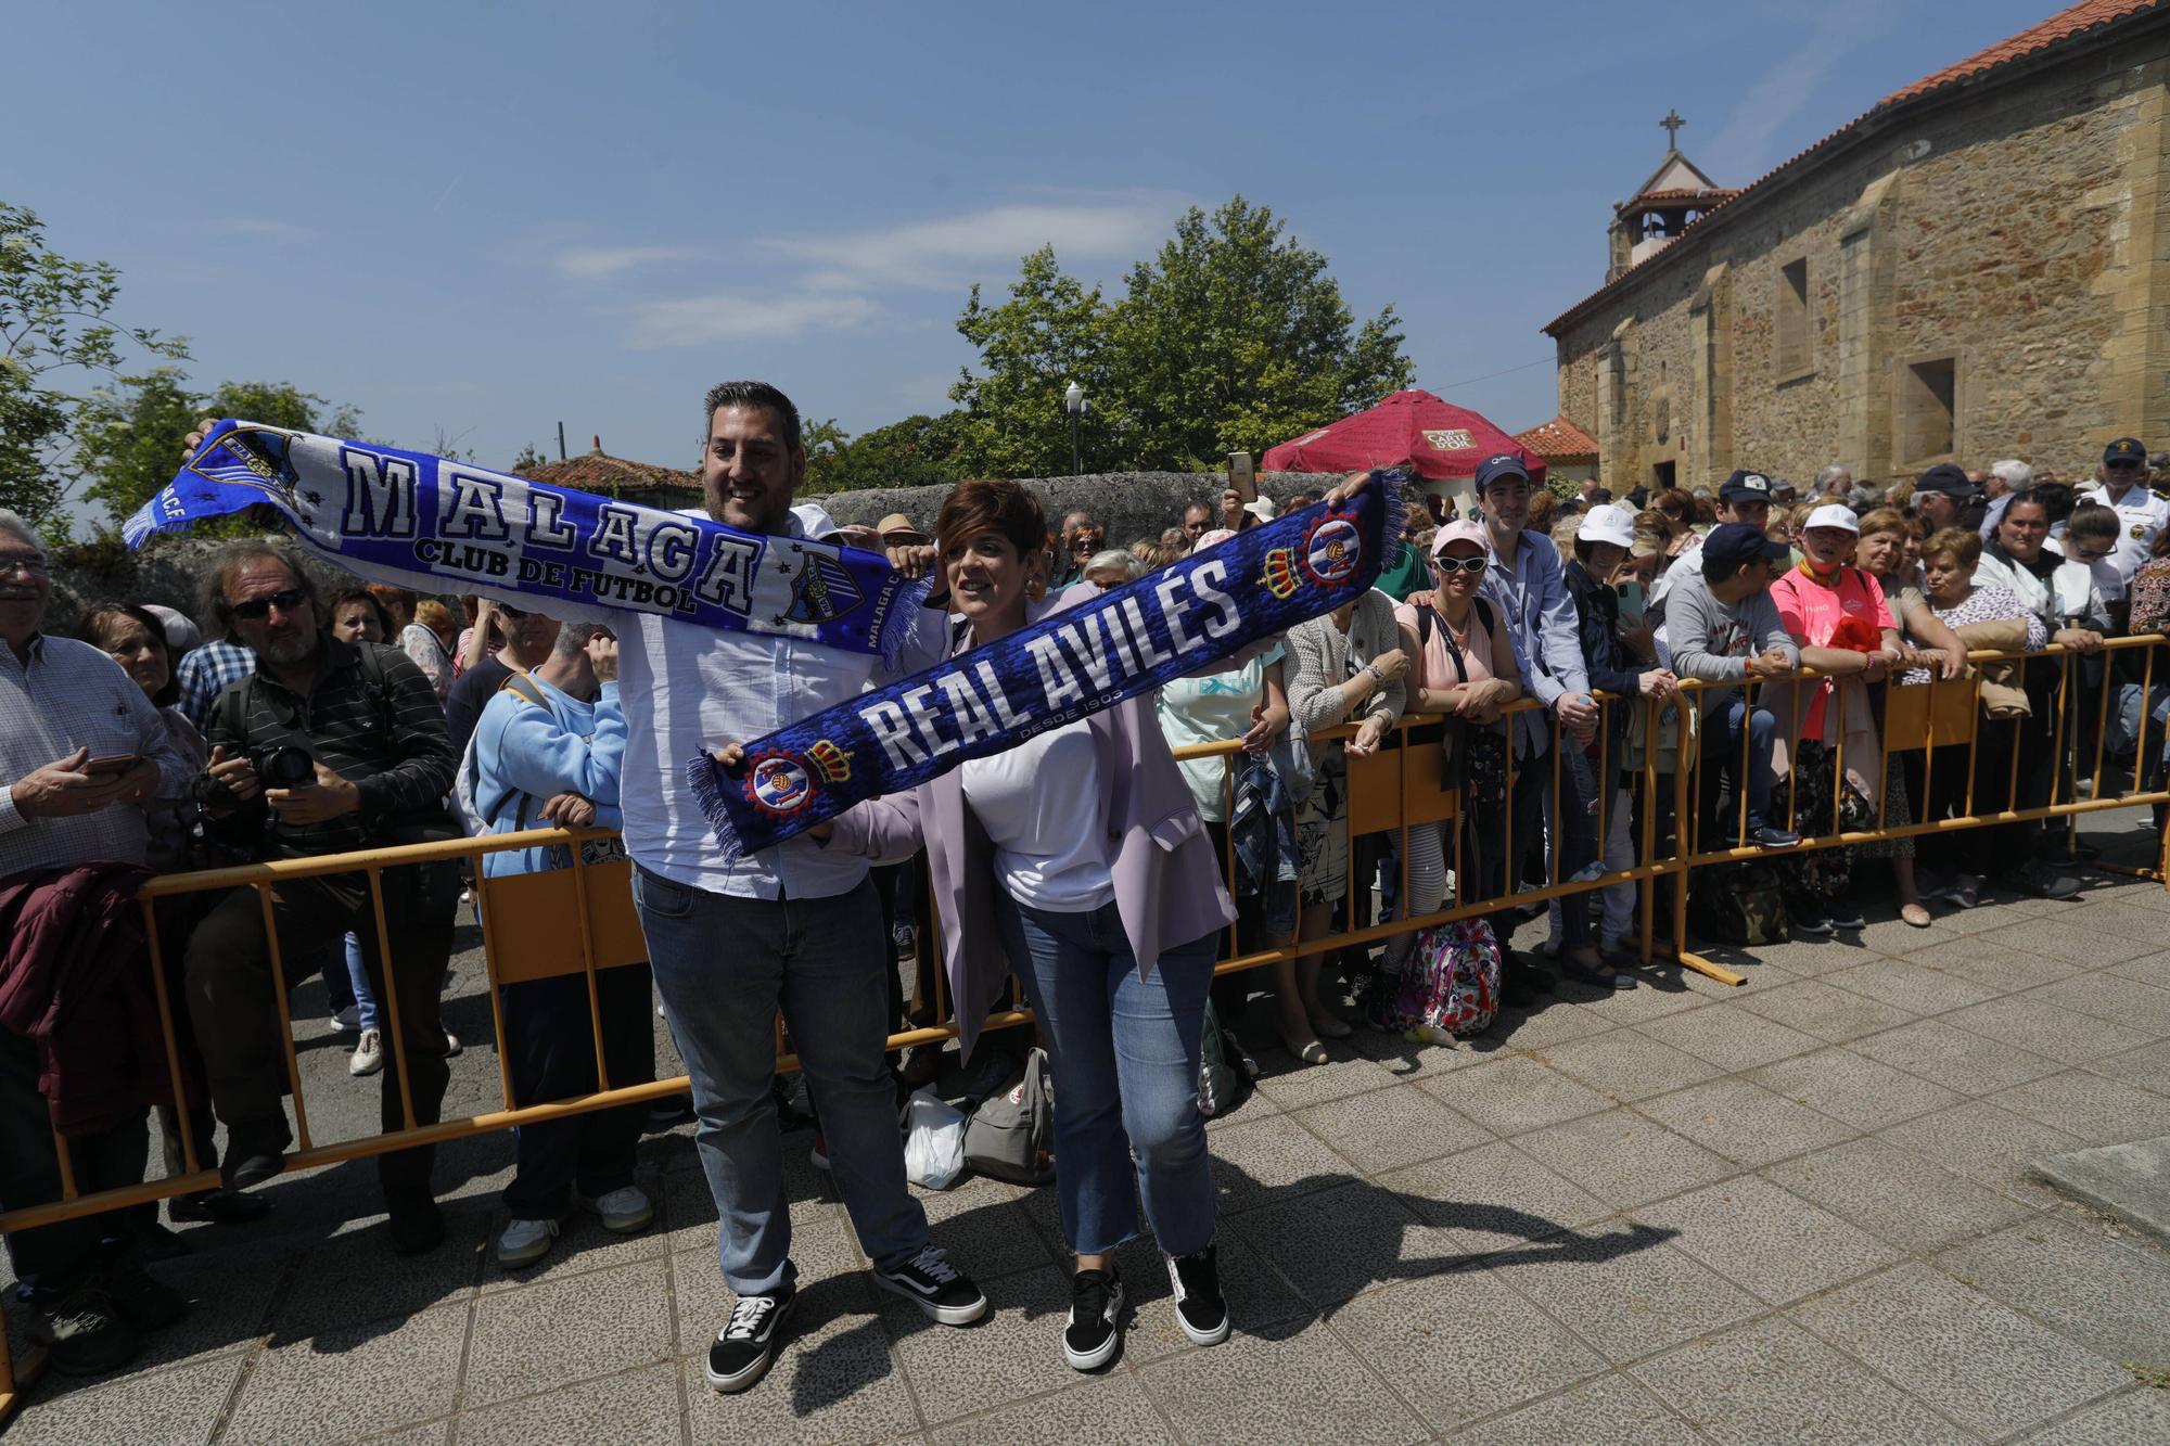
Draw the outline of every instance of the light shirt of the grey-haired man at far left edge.
[[[143,810],[115,803],[74,819],[24,819],[15,779],[78,747],[91,758],[141,753],[158,762],[163,797],[189,792],[195,769],[165,719],[113,658],[74,638],[30,638],[28,658],[0,645],[0,877],[93,860],[143,862]]]

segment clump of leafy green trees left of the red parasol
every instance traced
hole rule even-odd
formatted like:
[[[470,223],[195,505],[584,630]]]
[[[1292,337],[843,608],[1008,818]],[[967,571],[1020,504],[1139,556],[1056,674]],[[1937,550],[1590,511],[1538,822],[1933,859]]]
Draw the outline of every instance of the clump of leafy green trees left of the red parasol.
[[[966,410],[968,471],[1070,467],[1063,389],[1085,386],[1087,469],[1209,469],[1408,386],[1400,317],[1356,326],[1326,256],[1241,195],[1196,206],[1107,302],[1063,274],[1052,248],[1024,258],[1009,297],[966,302],[957,330],[981,354],[950,397]]]

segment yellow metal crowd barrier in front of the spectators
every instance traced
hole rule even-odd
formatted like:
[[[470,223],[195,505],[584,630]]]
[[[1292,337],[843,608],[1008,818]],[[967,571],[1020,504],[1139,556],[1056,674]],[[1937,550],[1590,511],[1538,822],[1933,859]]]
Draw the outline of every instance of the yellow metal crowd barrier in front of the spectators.
[[[2051,647],[2040,654],[1973,654],[1970,660],[1977,667],[1973,669],[1973,677],[1968,680],[1933,682],[1927,686],[1890,686],[1886,690],[1886,714],[1881,730],[1884,745],[1881,745],[1879,766],[1886,771],[1886,775],[1890,771],[1892,753],[1920,751],[1925,756],[1925,773],[1927,773],[1929,769],[1933,769],[1933,760],[1940,749],[1957,749],[1964,745],[1968,775],[1966,775],[1964,808],[1960,810],[1960,814],[1949,819],[1923,819],[1903,827],[1884,827],[1886,821],[1881,816],[1881,803],[1879,803],[1877,827],[1842,829],[1840,819],[1834,814],[1831,827],[1825,832],[1810,834],[1808,827],[1801,827],[1801,832],[1808,834],[1803,838],[1801,849],[1840,847],[1840,845],[1868,842],[1877,838],[1942,834],[1951,829],[1992,827],[1992,825],[2027,823],[2042,819],[2077,821],[2079,814],[2098,812],[2107,808],[2140,808],[2140,806],[2170,803],[2170,790],[2163,790],[2159,786],[2153,790],[2135,786],[2116,797],[2103,797],[2105,738],[2107,738],[2103,721],[2109,716],[2118,686],[2116,680],[2118,669],[2114,667],[2114,662],[2124,651],[2146,649],[2142,680],[2140,680],[2142,710],[2140,710],[2140,736],[2135,747],[2140,760],[2135,764],[2135,784],[2137,784],[2140,775],[2148,771],[2148,756],[2150,756],[2148,703],[2153,701],[2157,688],[2155,649],[2161,643],[2163,638],[2146,636],[2146,638],[2111,638],[2105,645],[2103,651],[2105,662],[2101,669],[2103,677],[2098,684],[2101,693],[2096,697],[2096,712],[2094,712],[2096,727],[2092,730],[2094,734],[2092,766],[2085,771],[2085,777],[2092,779],[2092,786],[2085,799],[2081,799],[2077,786],[2072,786],[2075,771],[2066,769],[2066,764],[2077,762],[2081,753],[2081,749],[2072,749],[2068,758],[2066,751],[2066,740],[2081,738],[2081,727],[2079,727],[2081,719],[2075,716],[2081,701],[2079,684],[2075,684],[2077,656],[2070,649],[2062,647]],[[2042,801],[2025,803],[2020,799],[2022,758],[2018,740],[2014,740],[2014,747],[2009,747],[2012,760],[2005,771],[2005,788],[2001,790],[2003,806],[1994,808],[1992,812],[1977,812],[1975,775],[1979,771],[1977,762],[1979,762],[1981,738],[1983,732],[2001,727],[1994,721],[1992,723],[1981,721],[1979,664],[1988,662],[2018,662],[2020,667],[2035,667],[2035,669],[2053,667],[2057,671],[2055,719],[2053,719],[2053,743],[2051,743],[2053,775],[2051,775],[2048,797]],[[1821,675],[1803,669],[1801,673],[1786,680],[1749,682],[1745,686],[1745,697],[1751,699],[1764,695],[1771,688],[1784,686],[1790,690],[1790,701],[1788,701],[1790,727],[1786,734],[1788,762],[1799,756],[1799,743],[1801,743],[1799,703],[1803,688],[1799,684],[1816,684],[1816,682],[1821,682]],[[2166,673],[2163,686],[2166,690],[2170,690],[2170,673]],[[1693,712],[1699,719],[1701,695],[1714,688],[1732,690],[1740,688],[1740,684],[1697,684],[1684,680],[1675,699],[1664,703],[1654,699],[1621,699],[1601,693],[1593,695],[1601,708],[1597,743],[1595,743],[1599,756],[1597,758],[1599,788],[1597,788],[1597,819],[1595,819],[1599,858],[1606,842],[1606,825],[1608,825],[1606,810],[1614,808],[1612,795],[1617,792],[1614,788],[1617,760],[1610,760],[1606,756],[1610,749],[1608,723],[1621,708],[1643,710],[1645,714],[1643,736],[1647,743],[1643,749],[1643,762],[1636,766],[1632,775],[1634,788],[1641,792],[1641,812],[1643,812],[1643,829],[1636,840],[1636,858],[1641,862],[1630,868],[1599,873],[1597,877],[1591,879],[1562,881],[1558,877],[1558,851],[1552,851],[1554,860],[1552,875],[1543,886],[1517,888],[1515,879],[1506,879],[1504,892],[1497,897],[1469,897],[1471,875],[1467,871],[1467,855],[1463,849],[1465,834],[1469,834],[1469,829],[1460,827],[1467,823],[1463,816],[1460,792],[1443,786],[1441,749],[1437,745],[1410,738],[1410,730],[1428,727],[1432,721],[1402,719],[1397,725],[1400,747],[1387,747],[1369,758],[1350,760],[1348,769],[1350,840],[1354,842],[1356,838],[1376,834],[1400,836],[1402,842],[1400,897],[1406,899],[1410,825],[1426,825],[1426,823],[1458,825],[1452,829],[1454,899],[1445,908],[1430,910],[1410,918],[1358,925],[1356,905],[1361,899],[1367,899],[1369,881],[1367,879],[1361,881],[1356,877],[1358,851],[1352,847],[1350,873],[1343,890],[1343,901],[1350,908],[1350,914],[1341,931],[1330,931],[1306,940],[1302,938],[1302,921],[1298,918],[1295,938],[1274,947],[1252,949],[1248,953],[1235,947],[1230,931],[1228,955],[1215,964],[1215,971],[1235,973],[1276,962],[1291,962],[1300,955],[1315,955],[1330,949],[1371,944],[1410,929],[1424,929],[1447,921],[1491,914],[1508,908],[1519,908],[1523,903],[1541,903],[1567,895],[1601,890],[1614,884],[1634,884],[1638,890],[1638,910],[1636,910],[1641,923],[1638,955],[1645,964],[1649,964],[1656,957],[1656,936],[1654,936],[1656,912],[1658,912],[1656,884],[1658,879],[1673,879],[1673,901],[1671,901],[1673,908],[1671,908],[1669,934],[1677,962],[1686,968],[1701,971],[1712,979],[1734,986],[1743,984],[1745,977],[1740,973],[1714,964],[1686,949],[1688,942],[1686,908],[1688,908],[1690,871],[1708,864],[1764,855],[1764,851],[1760,849],[1725,845],[1723,840],[1708,840],[1714,847],[1703,847],[1706,840],[1701,838],[1701,829],[1706,821],[1701,819],[1699,799],[1703,788],[1703,766],[1712,753],[1710,753],[1710,743],[1701,745],[1693,743],[1697,727],[1690,725],[1686,714]],[[2040,693],[2042,688],[2038,684],[2038,695]],[[1536,708],[1539,708],[1536,701],[1521,699],[1502,710],[1502,714],[1515,716]],[[1660,740],[1664,738],[1664,714],[1669,710],[1677,710],[1675,716],[1680,716],[1680,723],[1675,727],[1677,743],[1673,745],[1675,766],[1660,766],[1662,762],[1660,756],[1664,753]],[[1547,823],[1552,834],[1558,836],[1560,829],[1558,773],[1562,758],[1562,736],[1558,719],[1552,719],[1549,727],[1552,727],[1549,749],[1539,766],[1552,771],[1552,784],[1554,784],[1552,816]],[[1339,730],[1319,734],[1319,740],[1348,738],[1352,734],[1354,727],[1343,725]],[[2161,751],[2163,751],[2161,743],[2157,740],[2155,753]],[[1743,730],[1743,766],[1736,771],[1736,779],[1745,777],[1745,766],[1747,766],[1745,753],[1747,753],[1747,730]],[[1224,775],[1224,797],[1233,799],[1235,760],[1239,756],[1237,743],[1194,745],[1176,749],[1176,758],[1215,758],[1215,756],[1228,760],[1228,769]],[[1949,758],[1944,766],[1951,766]],[[1838,749],[1831,751],[1831,769],[1834,775],[1840,775],[1844,771],[1842,743]],[[1512,860],[1512,786],[1515,786],[1515,762],[1512,762],[1512,747],[1508,747],[1508,808],[1506,808],[1506,836],[1502,838],[1502,853],[1506,853],[1508,860]],[[1658,836],[1658,814],[1662,810],[1658,806],[1667,792],[1671,795],[1671,816],[1675,834],[1673,834],[1673,847],[1669,851],[1662,851]],[[1797,790],[1792,792],[1797,795]],[[1736,801],[1738,814],[1734,823],[1740,825],[1745,823],[1747,814],[1747,790],[1736,786],[1736,795],[1740,797]],[[1890,790],[1881,788],[1879,799],[1888,797]],[[1795,819],[1792,823],[1805,825],[1821,821]],[[286,1081],[293,1090],[293,1112],[295,1112],[297,1149],[286,1157],[289,1170],[317,1168],[345,1159],[380,1155],[414,1144],[436,1144],[447,1140],[471,1138],[506,1129],[512,1125],[558,1120],[566,1116],[586,1114],[592,1109],[608,1109],[625,1103],[664,1099],[688,1090],[690,1081],[684,1075],[631,1088],[610,1086],[608,1066],[603,1060],[601,1012],[597,1010],[597,997],[595,997],[595,975],[601,968],[618,968],[642,962],[647,957],[647,944],[640,936],[640,923],[631,905],[629,864],[625,864],[623,860],[590,864],[584,858],[584,849],[577,847],[584,840],[597,840],[610,836],[612,834],[603,829],[582,829],[582,832],[525,829],[519,834],[499,834],[486,838],[456,838],[447,842],[406,845],[395,849],[369,849],[360,853],[341,853],[312,860],[280,860],[269,864],[245,864],[245,866],[215,868],[202,873],[163,875],[148,881],[141,888],[139,897],[145,912],[145,925],[150,936],[150,973],[158,1003],[161,1031],[167,1049],[167,1073],[169,1073],[169,1083],[174,1088],[174,1099],[176,1101],[187,1099],[187,1083],[182,1079],[180,1049],[174,1020],[174,1001],[167,990],[167,973],[165,973],[165,960],[161,957],[154,910],[161,899],[174,899],[180,895],[195,895],[206,890],[230,890],[230,888],[254,888],[263,903],[265,934],[271,949],[271,984],[278,997],[278,1020],[284,1042]],[[1736,829],[1732,836],[1740,838],[1740,832]],[[571,868],[510,875],[501,879],[484,877],[482,873],[484,855],[506,849],[529,849],[538,845],[575,845],[569,849],[573,860]],[[477,914],[482,923],[484,968],[490,986],[488,994],[490,994],[490,1010],[495,1025],[493,1044],[497,1047],[503,1109],[473,1114],[456,1120],[443,1120],[436,1125],[417,1125],[414,1103],[408,1092],[406,1040],[401,1038],[397,994],[395,994],[397,984],[388,957],[391,951],[388,931],[384,929],[382,873],[384,868],[445,862],[445,860],[469,862],[482,899],[482,908],[477,910]],[[1224,858],[1224,866],[1230,871],[1233,877],[1233,855]],[[371,897],[371,908],[375,912],[378,940],[380,947],[386,951],[386,957],[382,960],[384,988],[386,988],[384,1012],[388,1018],[393,1057],[399,1068],[399,1101],[401,1101],[404,1129],[386,1131],[380,1136],[362,1136],[356,1140],[339,1140],[332,1144],[317,1144],[310,1138],[308,1129],[308,1107],[302,1092],[302,1073],[295,1060],[293,1020],[289,1018],[286,1012],[286,992],[284,988],[278,988],[284,977],[284,968],[280,960],[278,929],[273,927],[271,890],[276,890],[284,881],[341,875],[341,873],[362,873],[369,879],[369,897]],[[2133,873],[2142,873],[2144,877],[2150,879],[2170,879],[2170,836],[2166,836],[2166,851],[2159,853],[2157,868],[2133,871]],[[571,888],[566,888],[569,875],[571,875]],[[1298,912],[1302,912],[1302,905],[1298,905]],[[890,1049],[957,1038],[957,1023],[946,1005],[946,979],[944,971],[940,968],[940,957],[942,957],[940,940],[922,936],[920,962],[922,966],[927,962],[933,962],[931,975],[933,975],[937,1023],[892,1033]],[[590,1007],[590,1020],[595,1023],[595,1060],[597,1060],[599,1090],[582,1094],[577,1099],[519,1105],[512,1099],[512,1079],[506,1066],[503,1012],[499,1003],[499,988],[506,984],[564,977],[575,973],[579,973],[588,981],[588,1007]],[[983,1027],[998,1029],[998,1027],[1029,1025],[1029,1023],[1033,1023],[1029,1010],[1000,1010],[987,1016]],[[796,1060],[783,1047],[781,1020],[779,1020],[777,1068],[779,1070],[796,1068]],[[165,1196],[215,1188],[219,1183],[219,1177],[215,1170],[204,1170],[200,1166],[197,1140],[189,1129],[187,1109],[176,1107],[176,1118],[180,1125],[180,1146],[184,1162],[180,1175],[148,1179],[135,1185],[117,1190],[100,1190],[93,1194],[80,1194],[76,1190],[74,1170],[67,1157],[67,1142],[65,1138],[56,1136],[54,1149],[61,1166],[61,1198],[0,1214],[0,1233],[33,1229],[37,1225],[50,1225],[54,1220],[78,1218],[87,1214],[119,1209],[126,1205],[139,1205],[145,1201],[158,1201]],[[39,1361],[30,1361],[24,1377],[35,1379],[37,1368]],[[13,1363],[7,1355],[4,1331],[0,1331],[0,1420],[7,1418],[9,1409],[15,1405],[17,1398],[20,1392],[15,1385]]]

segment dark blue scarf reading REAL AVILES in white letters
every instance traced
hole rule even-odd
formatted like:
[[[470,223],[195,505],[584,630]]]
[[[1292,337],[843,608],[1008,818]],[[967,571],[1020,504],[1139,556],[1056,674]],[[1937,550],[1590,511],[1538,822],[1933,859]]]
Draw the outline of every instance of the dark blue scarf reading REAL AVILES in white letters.
[[[1400,473],[686,766],[725,858],[1016,747],[1354,601],[1402,532]]]

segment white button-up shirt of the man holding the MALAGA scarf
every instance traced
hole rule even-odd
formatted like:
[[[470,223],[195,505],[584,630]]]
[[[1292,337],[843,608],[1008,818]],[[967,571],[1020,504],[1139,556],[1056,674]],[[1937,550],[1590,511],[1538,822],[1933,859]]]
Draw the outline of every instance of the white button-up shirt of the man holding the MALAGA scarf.
[[[790,536],[805,536],[794,517]],[[618,703],[625,708],[625,851],[673,884],[742,899],[831,899],[866,877],[866,860],[786,838],[736,864],[686,782],[703,749],[753,743],[892,682],[881,658],[773,632],[701,627],[651,612],[614,614],[623,627]],[[931,669],[950,651],[940,610],[920,608],[896,677]]]

